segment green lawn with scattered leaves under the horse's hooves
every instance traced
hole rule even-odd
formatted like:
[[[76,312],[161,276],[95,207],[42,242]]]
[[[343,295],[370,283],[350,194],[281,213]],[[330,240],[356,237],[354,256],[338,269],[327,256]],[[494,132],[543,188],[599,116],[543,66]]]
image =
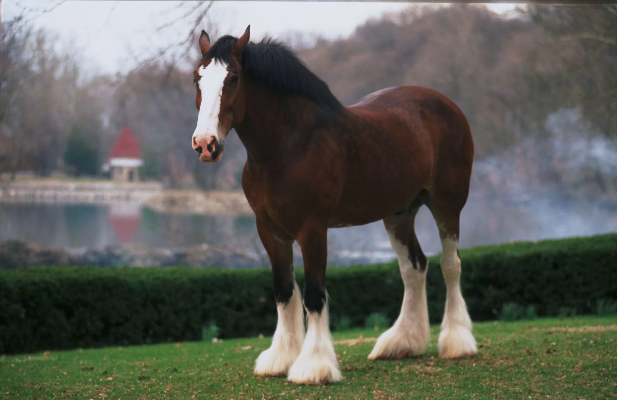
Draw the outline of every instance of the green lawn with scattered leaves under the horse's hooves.
[[[375,330],[334,333],[341,383],[297,386],[252,375],[269,338],[170,343],[0,358],[0,398],[603,399],[617,396],[617,316],[474,324],[479,353],[369,362]]]

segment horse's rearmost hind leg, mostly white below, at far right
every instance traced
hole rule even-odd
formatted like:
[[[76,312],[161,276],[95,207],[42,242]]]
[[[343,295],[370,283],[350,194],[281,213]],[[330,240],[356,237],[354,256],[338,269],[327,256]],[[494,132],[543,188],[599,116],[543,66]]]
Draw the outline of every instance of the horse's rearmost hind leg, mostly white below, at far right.
[[[439,356],[446,359],[473,356],[478,352],[476,340],[471,335],[471,318],[460,290],[461,260],[458,257],[458,228],[460,209],[429,206],[437,222],[441,238],[441,272],[444,275],[447,295],[444,319],[439,333]]]

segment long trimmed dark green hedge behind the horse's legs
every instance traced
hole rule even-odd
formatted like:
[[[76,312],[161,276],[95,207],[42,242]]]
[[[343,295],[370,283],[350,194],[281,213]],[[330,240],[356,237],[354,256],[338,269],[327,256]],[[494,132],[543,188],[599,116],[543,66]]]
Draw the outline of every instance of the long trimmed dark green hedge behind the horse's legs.
[[[594,312],[617,299],[617,234],[462,249],[462,289],[472,319],[495,318],[505,302]],[[429,257],[431,322],[445,285]],[[296,271],[300,286],[302,269]],[[336,267],[327,278],[331,322],[352,326],[379,312],[393,321],[403,285],[395,262]],[[0,272],[0,353],[200,340],[215,323],[223,338],[272,333],[276,307],[269,270],[36,267]]]

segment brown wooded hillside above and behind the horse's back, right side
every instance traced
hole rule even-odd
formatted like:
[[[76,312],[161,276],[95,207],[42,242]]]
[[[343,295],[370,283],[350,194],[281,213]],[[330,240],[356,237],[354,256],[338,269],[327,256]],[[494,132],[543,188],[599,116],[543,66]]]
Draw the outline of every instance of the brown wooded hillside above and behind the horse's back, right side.
[[[344,104],[400,85],[428,86],[463,109],[476,155],[546,135],[549,114],[579,107],[591,135],[617,137],[614,6],[410,7],[345,40],[302,52]]]

